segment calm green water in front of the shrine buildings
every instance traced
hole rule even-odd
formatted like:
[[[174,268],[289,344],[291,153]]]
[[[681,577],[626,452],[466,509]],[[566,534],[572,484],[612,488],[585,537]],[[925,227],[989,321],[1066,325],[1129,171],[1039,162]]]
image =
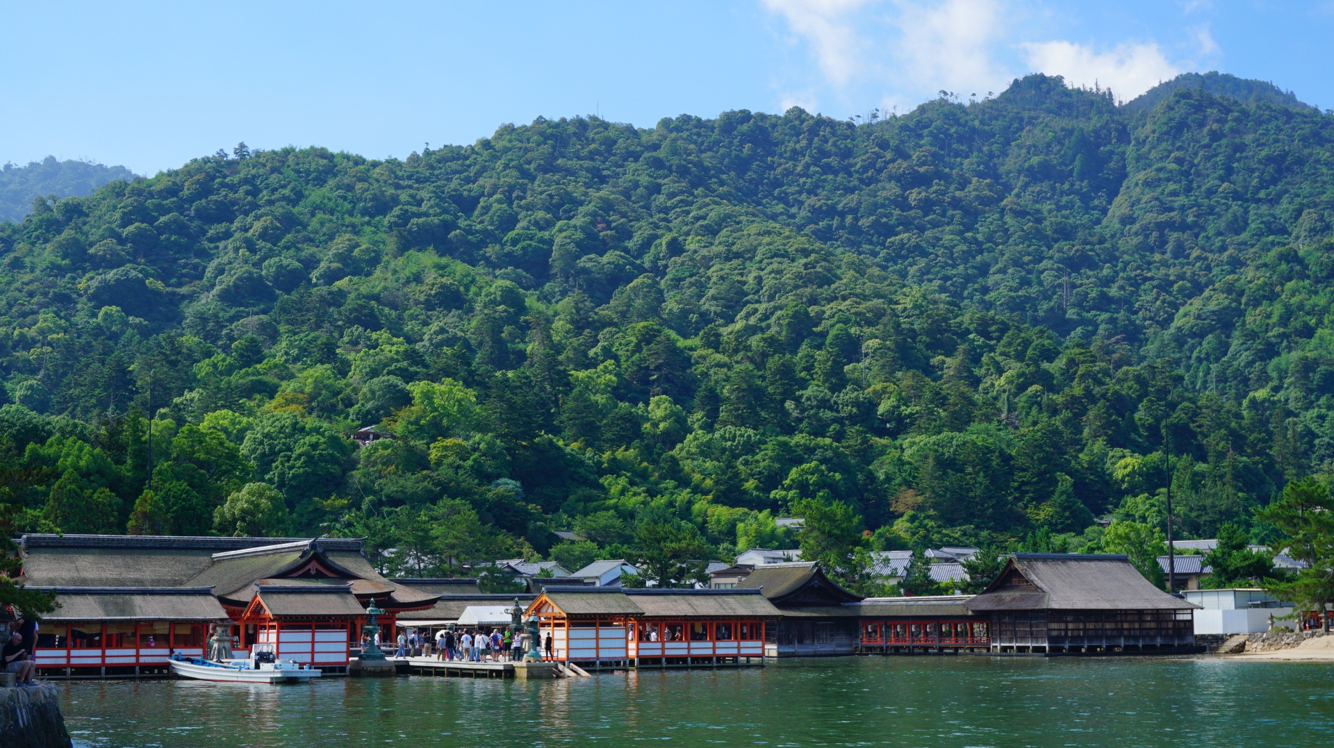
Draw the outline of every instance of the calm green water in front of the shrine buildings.
[[[559,681],[72,683],[75,745],[1331,745],[1334,664],[839,657]]]

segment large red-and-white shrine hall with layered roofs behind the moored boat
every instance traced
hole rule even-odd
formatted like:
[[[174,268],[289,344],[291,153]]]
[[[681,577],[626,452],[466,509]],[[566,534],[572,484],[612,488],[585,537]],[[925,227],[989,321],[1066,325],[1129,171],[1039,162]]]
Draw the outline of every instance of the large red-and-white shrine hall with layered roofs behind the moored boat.
[[[342,672],[374,600],[394,617],[435,593],[384,579],[360,540],[25,535],[19,581],[56,595],[39,668],[52,675],[164,671],[201,655],[225,624],[233,651],[273,644],[280,657]]]

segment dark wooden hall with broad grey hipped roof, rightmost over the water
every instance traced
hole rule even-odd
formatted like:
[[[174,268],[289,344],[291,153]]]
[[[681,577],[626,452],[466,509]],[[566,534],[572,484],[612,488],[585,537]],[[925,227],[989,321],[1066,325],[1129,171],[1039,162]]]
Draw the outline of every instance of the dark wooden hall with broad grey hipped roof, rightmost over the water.
[[[1154,587],[1126,556],[1011,553],[967,607],[992,652],[1194,652],[1198,605]]]

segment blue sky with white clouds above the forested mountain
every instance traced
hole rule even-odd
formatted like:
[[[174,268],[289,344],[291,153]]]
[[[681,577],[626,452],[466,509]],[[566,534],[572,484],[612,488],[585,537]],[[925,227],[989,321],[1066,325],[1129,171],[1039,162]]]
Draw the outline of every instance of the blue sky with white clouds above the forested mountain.
[[[0,163],[139,173],[240,140],[403,157],[539,115],[902,113],[1038,71],[1129,100],[1218,69],[1334,107],[1327,1],[0,0]]]

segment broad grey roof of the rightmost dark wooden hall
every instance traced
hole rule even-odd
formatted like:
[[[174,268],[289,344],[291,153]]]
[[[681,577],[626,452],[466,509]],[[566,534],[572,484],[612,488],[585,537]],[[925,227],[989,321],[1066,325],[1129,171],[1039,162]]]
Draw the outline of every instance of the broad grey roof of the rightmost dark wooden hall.
[[[1011,553],[971,611],[1171,611],[1198,608],[1154,587],[1126,556]]]

